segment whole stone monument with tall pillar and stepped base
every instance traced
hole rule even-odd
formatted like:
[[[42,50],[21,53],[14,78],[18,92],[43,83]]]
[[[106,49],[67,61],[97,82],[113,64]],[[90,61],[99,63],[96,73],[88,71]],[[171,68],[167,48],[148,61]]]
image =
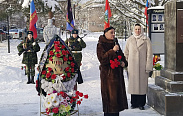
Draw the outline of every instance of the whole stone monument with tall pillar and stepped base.
[[[165,116],[183,116],[183,2],[165,5],[165,68],[149,85],[148,105]]]

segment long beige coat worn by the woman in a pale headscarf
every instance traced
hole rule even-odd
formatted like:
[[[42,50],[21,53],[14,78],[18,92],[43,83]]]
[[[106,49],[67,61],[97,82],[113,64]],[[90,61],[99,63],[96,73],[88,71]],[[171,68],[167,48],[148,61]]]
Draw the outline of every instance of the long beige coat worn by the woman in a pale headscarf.
[[[142,35],[128,38],[124,55],[128,61],[128,93],[147,93],[149,72],[153,69],[153,54],[150,39]]]

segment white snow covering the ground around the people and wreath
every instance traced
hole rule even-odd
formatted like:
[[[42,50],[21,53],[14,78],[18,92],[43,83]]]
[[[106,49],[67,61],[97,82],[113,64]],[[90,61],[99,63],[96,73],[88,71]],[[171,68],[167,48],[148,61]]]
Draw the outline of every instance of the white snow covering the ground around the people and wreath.
[[[79,106],[80,116],[103,116],[102,100],[100,93],[99,62],[96,56],[96,45],[99,35],[102,33],[90,33],[84,41],[87,47],[83,49],[83,60],[81,73],[84,83],[78,85],[78,90],[89,95],[89,99],[84,99]],[[82,37],[82,35],[80,35]],[[65,40],[65,36],[63,36]],[[22,56],[18,56],[17,45],[21,40],[10,40],[10,53],[8,53],[8,42],[0,43],[0,112],[2,116],[39,116],[43,98],[37,95],[35,84],[26,84],[27,77],[24,70],[21,70]],[[119,40],[124,49],[125,41]],[[40,58],[45,47],[43,42],[39,43],[41,51],[38,52]],[[36,65],[37,66],[37,65]],[[38,72],[36,71],[36,75]],[[125,76],[126,89],[128,80]],[[149,83],[153,84],[154,79],[149,78]],[[130,94],[127,94],[129,109],[120,112],[120,116],[160,116],[154,109],[146,105],[144,111],[130,109]],[[41,107],[41,109],[40,109]],[[43,115],[42,115],[43,116]],[[76,114],[74,114],[76,116]]]

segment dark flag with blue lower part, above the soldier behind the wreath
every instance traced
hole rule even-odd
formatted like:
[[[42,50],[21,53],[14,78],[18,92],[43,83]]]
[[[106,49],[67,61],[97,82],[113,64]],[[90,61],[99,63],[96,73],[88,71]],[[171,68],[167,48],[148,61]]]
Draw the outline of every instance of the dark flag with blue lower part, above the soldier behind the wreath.
[[[71,8],[70,0],[68,0],[66,19],[67,19],[66,30],[72,31],[74,29],[74,20],[73,20],[73,16],[72,16],[72,8]]]

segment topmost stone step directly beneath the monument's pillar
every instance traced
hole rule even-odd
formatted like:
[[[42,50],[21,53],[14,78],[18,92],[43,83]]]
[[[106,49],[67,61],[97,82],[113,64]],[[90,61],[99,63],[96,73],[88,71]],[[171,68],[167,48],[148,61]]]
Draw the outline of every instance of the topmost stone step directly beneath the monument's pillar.
[[[183,72],[176,72],[169,69],[161,70],[161,76],[166,77],[172,81],[183,81]]]

